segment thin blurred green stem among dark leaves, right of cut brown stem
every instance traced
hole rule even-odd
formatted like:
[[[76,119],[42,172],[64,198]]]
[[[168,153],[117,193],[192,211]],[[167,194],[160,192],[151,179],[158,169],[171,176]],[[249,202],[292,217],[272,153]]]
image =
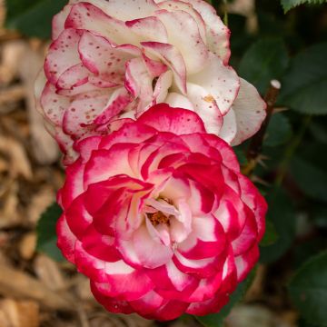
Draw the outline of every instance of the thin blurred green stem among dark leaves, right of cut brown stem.
[[[282,185],[282,181],[285,178],[287,169],[291,163],[292,156],[295,154],[297,148],[301,144],[302,138],[303,138],[309,124],[311,123],[311,121],[312,121],[311,115],[307,115],[303,118],[302,125],[299,129],[299,132],[293,137],[292,142],[286,148],[282,163],[279,166],[278,174],[275,179],[274,184],[276,187],[279,187]]]

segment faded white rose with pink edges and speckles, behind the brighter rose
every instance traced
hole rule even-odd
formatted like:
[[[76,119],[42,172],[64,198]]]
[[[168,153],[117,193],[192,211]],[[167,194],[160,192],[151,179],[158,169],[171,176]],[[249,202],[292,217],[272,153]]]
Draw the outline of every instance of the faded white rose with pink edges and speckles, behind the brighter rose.
[[[229,144],[252,136],[265,104],[228,65],[229,36],[202,0],[70,0],[36,87],[65,163],[74,140],[160,103],[193,110]]]

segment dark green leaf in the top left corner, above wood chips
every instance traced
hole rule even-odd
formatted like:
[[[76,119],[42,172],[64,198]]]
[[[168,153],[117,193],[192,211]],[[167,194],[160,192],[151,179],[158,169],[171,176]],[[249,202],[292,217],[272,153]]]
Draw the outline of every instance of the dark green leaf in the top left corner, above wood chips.
[[[67,0],[6,0],[5,25],[23,35],[50,38],[51,22]]]

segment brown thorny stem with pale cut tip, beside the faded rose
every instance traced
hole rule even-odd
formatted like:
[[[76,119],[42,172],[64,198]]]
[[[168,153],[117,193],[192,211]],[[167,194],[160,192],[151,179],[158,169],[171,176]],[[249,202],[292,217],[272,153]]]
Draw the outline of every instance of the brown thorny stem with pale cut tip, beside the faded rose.
[[[268,92],[264,97],[264,100],[267,103],[267,110],[266,110],[267,117],[263,122],[260,131],[253,136],[248,152],[246,154],[248,164],[243,169],[243,173],[246,175],[250,175],[253,172],[258,162],[258,157],[262,152],[263,139],[266,134],[270,120],[272,118],[273,108],[274,105],[276,104],[277,96],[280,90],[281,90],[281,83],[277,80],[272,80]]]

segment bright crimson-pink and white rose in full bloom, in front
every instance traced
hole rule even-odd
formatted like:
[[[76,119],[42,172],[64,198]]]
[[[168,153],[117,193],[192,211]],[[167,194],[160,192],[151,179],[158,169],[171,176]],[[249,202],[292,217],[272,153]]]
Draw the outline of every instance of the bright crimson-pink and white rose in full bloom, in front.
[[[74,145],[59,248],[110,312],[218,312],[258,259],[263,197],[189,110],[157,104],[116,124]]]

